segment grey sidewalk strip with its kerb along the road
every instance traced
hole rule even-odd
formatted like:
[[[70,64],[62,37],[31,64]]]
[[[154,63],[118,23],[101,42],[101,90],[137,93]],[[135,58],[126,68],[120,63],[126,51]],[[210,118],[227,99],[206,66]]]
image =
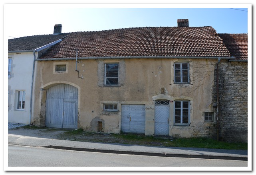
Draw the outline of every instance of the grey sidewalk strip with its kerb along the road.
[[[247,150],[222,150],[207,148],[154,147],[127,144],[109,144],[93,142],[77,142],[39,138],[18,134],[8,134],[9,145],[35,146],[63,150],[102,152],[113,154],[133,154],[144,156],[188,157],[202,159],[230,159],[247,161]]]

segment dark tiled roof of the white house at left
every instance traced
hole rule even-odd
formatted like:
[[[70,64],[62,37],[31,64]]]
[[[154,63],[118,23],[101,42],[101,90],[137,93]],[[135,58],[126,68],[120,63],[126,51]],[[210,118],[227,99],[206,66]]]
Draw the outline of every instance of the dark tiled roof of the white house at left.
[[[8,39],[8,51],[32,51],[67,36],[69,33],[60,35],[34,35]]]

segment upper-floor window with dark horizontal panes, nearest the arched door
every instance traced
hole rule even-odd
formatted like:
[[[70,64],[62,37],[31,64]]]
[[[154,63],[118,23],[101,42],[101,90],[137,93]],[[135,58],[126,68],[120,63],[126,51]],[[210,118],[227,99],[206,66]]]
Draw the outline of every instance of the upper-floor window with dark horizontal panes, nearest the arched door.
[[[105,85],[118,85],[118,63],[105,63]]]

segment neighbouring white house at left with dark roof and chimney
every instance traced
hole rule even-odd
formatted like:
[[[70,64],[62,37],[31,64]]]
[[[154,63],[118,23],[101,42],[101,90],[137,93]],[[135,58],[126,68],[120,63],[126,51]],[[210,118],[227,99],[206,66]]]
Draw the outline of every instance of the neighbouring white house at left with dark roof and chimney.
[[[61,33],[61,29],[62,25],[57,24],[51,35],[8,40],[8,122],[30,124],[35,60],[44,50],[68,35]]]

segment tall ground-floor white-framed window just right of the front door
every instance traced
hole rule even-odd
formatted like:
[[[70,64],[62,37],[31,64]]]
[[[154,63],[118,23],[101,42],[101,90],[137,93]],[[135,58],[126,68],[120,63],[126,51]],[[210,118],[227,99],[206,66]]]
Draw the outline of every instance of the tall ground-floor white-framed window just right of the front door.
[[[174,124],[189,124],[190,121],[189,101],[175,101],[175,120]]]

